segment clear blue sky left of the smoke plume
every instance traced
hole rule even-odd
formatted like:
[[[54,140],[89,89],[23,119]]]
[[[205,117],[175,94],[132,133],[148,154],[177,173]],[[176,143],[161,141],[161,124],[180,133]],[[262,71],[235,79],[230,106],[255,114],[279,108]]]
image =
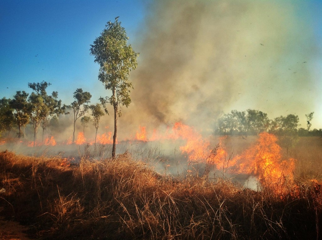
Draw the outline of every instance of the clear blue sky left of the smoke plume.
[[[76,88],[89,91],[95,102],[106,93],[90,44],[117,16],[133,40],[144,17],[143,2],[1,0],[0,97],[30,93],[28,82],[47,81],[48,91],[58,91],[65,104],[73,101]]]

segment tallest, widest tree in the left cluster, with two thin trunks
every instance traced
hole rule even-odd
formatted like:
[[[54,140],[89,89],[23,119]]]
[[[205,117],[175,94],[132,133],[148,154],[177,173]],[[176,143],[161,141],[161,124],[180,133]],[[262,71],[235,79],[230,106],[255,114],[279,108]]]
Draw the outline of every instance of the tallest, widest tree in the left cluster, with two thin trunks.
[[[62,106],[62,101],[57,100],[58,92],[53,91],[52,95],[47,95],[46,88],[50,83],[42,81],[41,83],[28,83],[28,87],[33,89],[29,97],[32,105],[31,121],[33,123],[33,146],[37,139],[37,130],[42,123],[43,134],[48,122],[48,117],[65,113],[66,106]]]

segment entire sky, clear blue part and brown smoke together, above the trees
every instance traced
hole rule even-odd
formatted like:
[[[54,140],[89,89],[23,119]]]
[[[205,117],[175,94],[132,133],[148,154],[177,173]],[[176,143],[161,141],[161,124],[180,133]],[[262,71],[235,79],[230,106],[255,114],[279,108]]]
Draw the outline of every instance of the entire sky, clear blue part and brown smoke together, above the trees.
[[[270,119],[295,113],[302,127],[314,111],[312,128],[322,128],[321,12],[321,0],[2,0],[0,97],[47,81],[48,92],[58,91],[67,105],[76,88],[99,102],[109,93],[90,44],[119,16],[140,52],[130,76],[131,119],[144,111],[154,125],[196,125],[252,108]]]

